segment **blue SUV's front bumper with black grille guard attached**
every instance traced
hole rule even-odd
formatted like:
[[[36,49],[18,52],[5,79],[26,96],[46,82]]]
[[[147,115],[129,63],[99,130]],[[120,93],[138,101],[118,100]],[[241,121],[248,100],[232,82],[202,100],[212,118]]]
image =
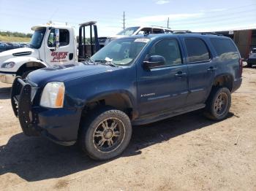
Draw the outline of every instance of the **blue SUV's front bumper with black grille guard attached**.
[[[46,136],[57,144],[69,146],[78,138],[80,109],[49,109],[33,106],[31,85],[17,77],[12,84],[12,109],[27,136]]]

